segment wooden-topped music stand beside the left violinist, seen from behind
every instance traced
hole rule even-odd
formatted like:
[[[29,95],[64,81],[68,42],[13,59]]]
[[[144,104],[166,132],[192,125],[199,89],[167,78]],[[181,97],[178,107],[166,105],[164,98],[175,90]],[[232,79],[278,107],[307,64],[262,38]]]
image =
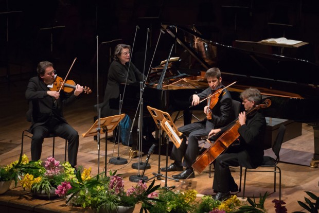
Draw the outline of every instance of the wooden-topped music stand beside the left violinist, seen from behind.
[[[105,176],[107,175],[107,152],[108,152],[108,133],[113,132],[118,123],[123,119],[125,114],[109,116],[105,118],[97,119],[92,127],[85,133],[82,134],[83,137],[95,136],[97,135],[97,147],[98,147],[98,174],[100,169],[100,134],[105,133]]]

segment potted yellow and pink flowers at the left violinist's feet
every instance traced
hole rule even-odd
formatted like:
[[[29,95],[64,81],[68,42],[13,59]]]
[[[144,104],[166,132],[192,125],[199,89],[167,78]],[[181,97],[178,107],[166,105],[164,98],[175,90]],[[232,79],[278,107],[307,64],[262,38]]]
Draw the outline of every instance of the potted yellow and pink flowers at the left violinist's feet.
[[[21,185],[40,198],[57,197],[55,190],[58,185],[75,177],[74,168],[68,162],[61,165],[51,156],[47,157],[43,165],[41,160],[34,162],[33,165],[38,170],[32,170],[25,174]]]

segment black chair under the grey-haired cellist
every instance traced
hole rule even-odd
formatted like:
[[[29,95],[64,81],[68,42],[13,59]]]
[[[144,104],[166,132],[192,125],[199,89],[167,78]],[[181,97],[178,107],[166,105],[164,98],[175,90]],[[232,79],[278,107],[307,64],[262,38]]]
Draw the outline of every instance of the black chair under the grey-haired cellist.
[[[244,188],[243,188],[243,194],[242,194],[243,198],[245,198],[245,185],[246,185],[247,172],[274,172],[274,191],[272,193],[276,192],[276,174],[279,173],[279,200],[281,199],[281,170],[277,166],[277,164],[279,163],[279,152],[280,152],[283,136],[285,135],[285,131],[286,131],[286,127],[284,125],[280,125],[278,134],[272,146],[272,150],[276,155],[276,159],[272,158],[271,156],[263,156],[263,162],[258,167],[258,168],[271,167],[273,168],[273,170],[256,170],[256,169],[245,168]],[[242,167],[240,169],[242,169]],[[241,176],[240,176],[240,181],[241,181]]]

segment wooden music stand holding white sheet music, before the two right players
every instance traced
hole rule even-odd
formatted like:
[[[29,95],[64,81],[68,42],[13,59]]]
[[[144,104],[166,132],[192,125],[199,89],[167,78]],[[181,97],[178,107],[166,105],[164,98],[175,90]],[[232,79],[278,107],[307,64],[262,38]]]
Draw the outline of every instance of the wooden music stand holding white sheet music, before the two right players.
[[[176,146],[176,148],[179,148],[181,146],[181,143],[183,139],[180,138],[183,133],[179,132],[178,129],[176,128],[173,119],[167,112],[163,112],[161,110],[157,110],[155,108],[152,108],[150,106],[147,106],[148,111],[150,112],[154,122],[157,125],[157,128],[160,130],[164,130],[162,133],[166,133],[165,139],[166,139],[166,168],[168,167],[168,143],[169,139],[168,137],[173,141],[173,144]],[[161,142],[159,142],[158,145],[158,150],[161,150]],[[165,177],[165,188],[167,187],[167,179],[171,179],[174,181],[179,182],[179,179],[174,179],[174,178],[169,178],[167,176],[167,169],[165,171],[165,175],[161,174],[161,152],[159,151],[158,153],[158,171],[157,173],[153,172],[153,177],[148,179],[147,181],[157,178],[157,180],[161,180],[161,177]],[[172,186],[172,188],[175,188]]]

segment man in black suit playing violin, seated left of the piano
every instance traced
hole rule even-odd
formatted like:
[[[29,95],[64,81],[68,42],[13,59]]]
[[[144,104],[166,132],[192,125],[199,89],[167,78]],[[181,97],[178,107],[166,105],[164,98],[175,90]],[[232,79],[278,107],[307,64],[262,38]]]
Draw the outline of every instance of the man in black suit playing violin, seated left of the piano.
[[[29,131],[33,134],[31,140],[31,159],[41,158],[43,139],[50,133],[67,139],[68,161],[75,168],[79,147],[79,134],[65,120],[62,107],[78,99],[83,92],[83,86],[76,85],[73,94],[50,91],[55,81],[56,70],[53,64],[42,61],[37,66],[38,76],[29,80],[25,93],[29,101],[27,119],[31,121]]]

